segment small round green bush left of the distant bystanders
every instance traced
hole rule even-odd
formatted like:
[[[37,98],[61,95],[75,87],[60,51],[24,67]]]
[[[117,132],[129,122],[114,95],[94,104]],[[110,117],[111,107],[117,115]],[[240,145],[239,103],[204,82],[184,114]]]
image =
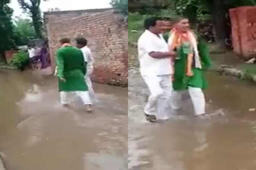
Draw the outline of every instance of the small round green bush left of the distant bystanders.
[[[17,69],[23,71],[25,67],[29,64],[29,57],[25,51],[19,51],[14,54],[11,64]]]

